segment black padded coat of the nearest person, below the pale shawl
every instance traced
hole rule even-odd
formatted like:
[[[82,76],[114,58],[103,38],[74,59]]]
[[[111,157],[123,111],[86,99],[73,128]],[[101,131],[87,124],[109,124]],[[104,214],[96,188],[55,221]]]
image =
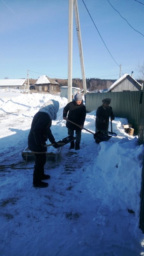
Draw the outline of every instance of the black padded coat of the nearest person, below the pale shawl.
[[[46,145],[45,141],[49,139],[50,142],[55,141],[54,136],[50,130],[51,120],[49,115],[45,112],[37,112],[34,115],[31,130],[28,135],[28,148],[34,152],[46,152],[47,148],[42,147]]]

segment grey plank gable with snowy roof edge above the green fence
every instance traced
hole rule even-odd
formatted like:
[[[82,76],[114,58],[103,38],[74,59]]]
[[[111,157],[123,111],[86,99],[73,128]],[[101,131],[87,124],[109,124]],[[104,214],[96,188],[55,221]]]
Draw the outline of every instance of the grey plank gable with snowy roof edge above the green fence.
[[[140,91],[141,84],[138,83],[133,76],[124,74],[117,81],[115,81],[107,92],[126,92],[126,91]]]

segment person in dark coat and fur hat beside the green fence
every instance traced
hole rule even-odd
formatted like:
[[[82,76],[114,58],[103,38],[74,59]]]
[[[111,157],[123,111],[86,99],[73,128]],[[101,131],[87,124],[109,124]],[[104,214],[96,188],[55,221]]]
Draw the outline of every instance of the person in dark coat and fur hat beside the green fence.
[[[112,107],[110,107],[110,101],[110,98],[103,99],[102,106],[96,110],[95,132],[109,135],[109,117],[111,121],[115,119]]]

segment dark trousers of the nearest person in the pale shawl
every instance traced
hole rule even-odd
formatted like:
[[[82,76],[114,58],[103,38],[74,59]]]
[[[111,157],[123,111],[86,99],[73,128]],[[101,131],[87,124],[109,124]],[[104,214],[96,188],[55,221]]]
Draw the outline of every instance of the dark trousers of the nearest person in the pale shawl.
[[[34,173],[33,173],[33,184],[39,184],[42,180],[42,175],[44,174],[44,165],[46,163],[46,153],[36,154]]]

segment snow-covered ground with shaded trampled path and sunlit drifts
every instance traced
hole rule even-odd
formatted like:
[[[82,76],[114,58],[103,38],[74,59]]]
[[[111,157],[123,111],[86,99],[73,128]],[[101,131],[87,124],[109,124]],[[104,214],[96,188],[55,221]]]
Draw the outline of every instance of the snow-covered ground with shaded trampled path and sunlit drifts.
[[[113,121],[118,136],[108,142],[96,144],[82,130],[80,150],[69,150],[67,144],[59,160],[47,161],[48,188],[33,187],[34,161],[21,165],[21,151],[34,114],[49,99],[60,104],[51,130],[61,140],[67,136],[66,98],[39,93],[6,98],[0,92],[0,255],[144,255],[139,228],[144,148],[125,133],[126,119]],[[95,131],[95,111],[87,114],[84,127]]]

